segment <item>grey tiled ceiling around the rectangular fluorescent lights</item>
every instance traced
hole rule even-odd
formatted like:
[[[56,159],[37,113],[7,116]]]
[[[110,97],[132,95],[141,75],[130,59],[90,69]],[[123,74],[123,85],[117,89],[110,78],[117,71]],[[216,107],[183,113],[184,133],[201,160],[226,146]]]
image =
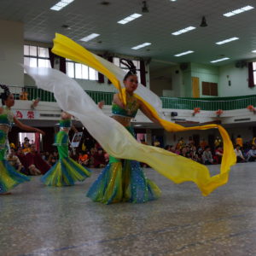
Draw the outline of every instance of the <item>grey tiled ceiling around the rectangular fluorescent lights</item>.
[[[186,61],[210,64],[209,61],[221,58],[221,55],[230,57],[230,61],[215,65],[256,58],[256,53],[252,53],[256,49],[254,0],[148,0],[149,13],[144,14],[141,12],[142,1],[138,0],[108,0],[108,6],[100,4],[102,0],[75,0],[59,12],[50,10],[57,2],[0,0],[0,20],[24,22],[26,40],[51,42],[55,32],[60,32],[87,49],[151,58],[157,67]],[[230,10],[246,5],[252,5],[255,9],[230,18],[223,16]],[[133,13],[143,16],[126,25],[117,23]],[[199,26],[203,15],[207,18],[207,27]],[[62,25],[68,25],[71,29],[63,29]],[[172,32],[187,26],[195,26],[196,29],[180,36],[172,35]],[[93,32],[101,36],[88,43],[79,41]],[[232,37],[240,40],[224,45],[215,44]],[[144,42],[152,45],[131,49]],[[195,53],[173,56],[189,49]]]

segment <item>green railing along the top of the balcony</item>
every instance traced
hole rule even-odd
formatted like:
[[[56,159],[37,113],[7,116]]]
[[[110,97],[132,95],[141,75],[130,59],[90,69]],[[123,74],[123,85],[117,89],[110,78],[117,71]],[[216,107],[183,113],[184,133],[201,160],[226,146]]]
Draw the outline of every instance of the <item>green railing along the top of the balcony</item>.
[[[11,92],[15,95],[15,99],[20,99],[20,94],[23,91],[27,92],[27,99],[40,98],[42,102],[55,102],[55,97],[49,91],[38,89],[36,87],[10,87]],[[104,101],[106,105],[111,105],[113,100],[113,92],[102,91],[86,91],[87,94],[97,103]],[[236,96],[236,97],[217,97],[217,98],[176,98],[176,97],[161,97],[163,108],[171,109],[194,109],[216,111],[234,110],[247,108],[248,105],[256,106],[256,96]]]

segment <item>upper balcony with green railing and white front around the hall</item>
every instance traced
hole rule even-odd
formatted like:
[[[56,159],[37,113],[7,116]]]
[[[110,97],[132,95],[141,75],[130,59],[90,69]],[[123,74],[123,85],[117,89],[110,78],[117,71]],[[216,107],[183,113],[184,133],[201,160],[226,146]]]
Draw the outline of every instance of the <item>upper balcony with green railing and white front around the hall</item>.
[[[29,109],[33,99],[40,98],[41,103],[36,109],[38,112],[45,111],[53,113],[47,115],[46,113],[38,116],[47,119],[58,119],[60,108],[55,103],[55,97],[52,93],[38,89],[37,87],[17,87],[11,86],[11,92],[15,95],[15,109]],[[19,101],[22,90],[27,92],[28,101]],[[104,112],[111,114],[110,106],[113,100],[113,92],[102,91],[86,91],[86,93],[97,103],[105,102]],[[256,95],[253,96],[233,96],[233,97],[218,97],[218,98],[177,98],[177,97],[161,97],[163,102],[163,114],[166,119],[170,119],[177,123],[200,124],[207,122],[216,122],[222,124],[232,124],[241,122],[256,122],[256,114],[250,112],[248,106],[256,106]],[[45,104],[47,102],[47,104]],[[51,103],[50,103],[51,102]],[[200,108],[200,113],[193,115],[195,108]],[[218,116],[216,111],[221,109],[223,113]],[[177,113],[177,115],[175,113]],[[43,119],[44,119],[43,118]],[[133,120],[138,123],[150,123],[150,121],[138,113],[137,118]]]

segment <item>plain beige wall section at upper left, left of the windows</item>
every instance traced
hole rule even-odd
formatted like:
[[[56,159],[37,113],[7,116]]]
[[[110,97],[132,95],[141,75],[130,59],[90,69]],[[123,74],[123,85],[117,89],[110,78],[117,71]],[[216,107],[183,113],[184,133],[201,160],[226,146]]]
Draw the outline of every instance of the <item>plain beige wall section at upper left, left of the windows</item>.
[[[0,20],[0,83],[23,84],[23,24]]]

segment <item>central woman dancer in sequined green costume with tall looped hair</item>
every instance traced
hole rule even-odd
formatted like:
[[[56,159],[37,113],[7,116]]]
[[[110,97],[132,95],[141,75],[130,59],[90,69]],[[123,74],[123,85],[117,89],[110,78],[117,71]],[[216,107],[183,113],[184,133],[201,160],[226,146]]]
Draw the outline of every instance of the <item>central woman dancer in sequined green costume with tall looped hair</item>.
[[[133,95],[138,84],[136,67],[132,61],[127,60],[126,62],[122,60],[122,63],[130,69],[124,78],[126,105],[124,106],[121,102],[119,94],[115,94],[113,96],[112,113],[113,119],[124,125],[134,136],[131,119],[135,118],[138,109],[153,122],[158,123],[158,121],[148,112],[143,102]],[[160,196],[160,189],[145,177],[139,162],[120,160],[110,155],[108,166],[103,169],[96,182],[92,184],[87,196],[92,201],[105,204],[119,201],[143,203],[157,199]]]

